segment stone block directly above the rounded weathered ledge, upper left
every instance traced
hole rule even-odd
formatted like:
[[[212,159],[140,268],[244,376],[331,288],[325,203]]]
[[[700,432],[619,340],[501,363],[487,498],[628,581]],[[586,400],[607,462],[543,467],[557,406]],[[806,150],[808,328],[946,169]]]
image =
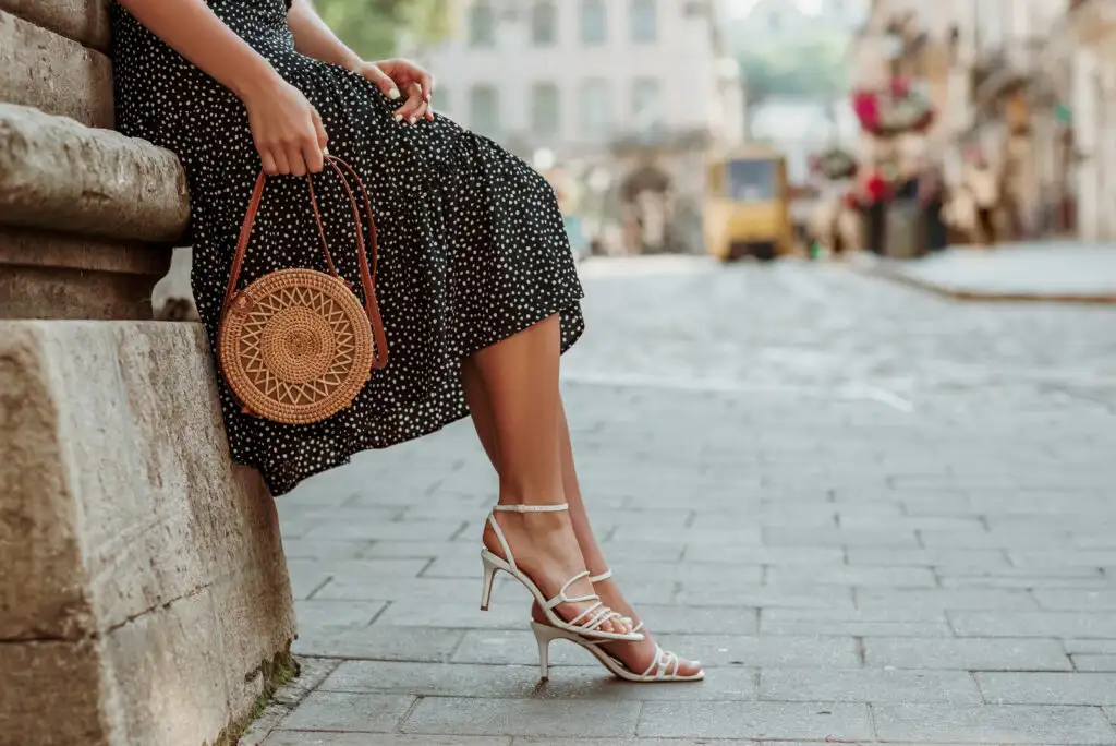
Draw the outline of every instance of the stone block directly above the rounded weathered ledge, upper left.
[[[113,128],[108,57],[0,10],[0,101]]]

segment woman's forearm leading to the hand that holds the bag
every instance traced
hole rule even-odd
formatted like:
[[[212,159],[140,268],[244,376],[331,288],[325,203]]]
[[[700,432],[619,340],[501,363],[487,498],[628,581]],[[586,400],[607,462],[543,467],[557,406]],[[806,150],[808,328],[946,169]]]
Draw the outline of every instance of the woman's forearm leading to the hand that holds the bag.
[[[218,18],[204,0],[118,0],[152,34],[240,98],[273,85],[278,73]]]

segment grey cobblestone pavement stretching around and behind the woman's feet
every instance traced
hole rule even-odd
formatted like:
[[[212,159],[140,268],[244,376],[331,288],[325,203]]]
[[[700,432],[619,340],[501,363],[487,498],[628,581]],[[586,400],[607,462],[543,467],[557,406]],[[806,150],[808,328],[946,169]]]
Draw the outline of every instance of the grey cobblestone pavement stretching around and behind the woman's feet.
[[[1116,309],[836,266],[584,275],[596,529],[708,680],[556,643],[538,685],[522,590],[478,611],[496,480],[461,423],[280,500],[305,672],[246,743],[1116,743]]]

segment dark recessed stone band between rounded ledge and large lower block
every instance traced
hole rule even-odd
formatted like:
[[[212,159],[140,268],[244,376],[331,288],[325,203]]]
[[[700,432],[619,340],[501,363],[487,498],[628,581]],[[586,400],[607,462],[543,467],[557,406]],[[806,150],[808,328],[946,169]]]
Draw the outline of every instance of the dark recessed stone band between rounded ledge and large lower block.
[[[0,318],[150,319],[166,247],[0,227]]]

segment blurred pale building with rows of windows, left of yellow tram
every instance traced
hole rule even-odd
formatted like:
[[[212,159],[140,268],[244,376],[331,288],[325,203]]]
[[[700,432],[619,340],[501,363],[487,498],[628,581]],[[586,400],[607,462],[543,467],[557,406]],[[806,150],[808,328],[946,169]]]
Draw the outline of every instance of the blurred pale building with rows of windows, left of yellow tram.
[[[685,223],[660,243],[696,250],[704,153],[743,134],[720,4],[456,0],[454,32],[422,54],[437,76],[435,108],[528,160],[542,153],[584,176],[583,201],[599,213],[587,231],[597,238],[632,250],[645,242],[645,222]],[[676,219],[643,221],[647,205]]]

